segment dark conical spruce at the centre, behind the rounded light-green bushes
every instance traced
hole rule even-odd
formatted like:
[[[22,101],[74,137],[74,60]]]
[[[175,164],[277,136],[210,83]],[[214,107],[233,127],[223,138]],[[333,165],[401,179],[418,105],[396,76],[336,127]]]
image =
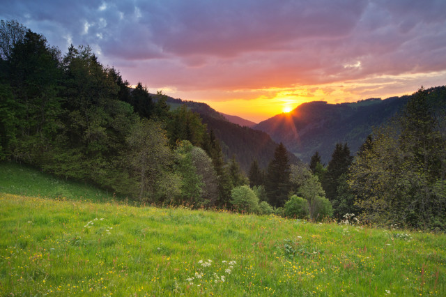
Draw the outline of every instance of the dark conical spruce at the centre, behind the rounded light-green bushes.
[[[274,158],[268,165],[266,174],[266,193],[272,206],[284,206],[289,191],[289,178],[288,152],[281,142],[275,149]]]

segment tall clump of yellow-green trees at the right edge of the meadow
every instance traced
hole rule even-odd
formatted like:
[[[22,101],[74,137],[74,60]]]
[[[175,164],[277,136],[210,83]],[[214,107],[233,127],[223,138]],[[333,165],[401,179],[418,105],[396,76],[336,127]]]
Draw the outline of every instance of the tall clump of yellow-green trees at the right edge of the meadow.
[[[437,95],[420,89],[411,96],[406,109],[374,132],[353,163],[349,183],[364,211],[362,220],[445,227],[445,114],[438,113],[445,103],[429,100]]]

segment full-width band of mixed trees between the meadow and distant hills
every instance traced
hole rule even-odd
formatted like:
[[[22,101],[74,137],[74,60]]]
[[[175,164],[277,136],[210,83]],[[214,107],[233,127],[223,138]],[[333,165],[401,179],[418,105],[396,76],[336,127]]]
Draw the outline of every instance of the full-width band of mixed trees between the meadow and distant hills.
[[[130,88],[89,46],[62,54],[22,24],[0,24],[0,160],[142,203],[445,230],[445,98],[444,86],[422,88],[357,153],[337,139],[328,165],[316,150],[307,165],[263,132]],[[261,160],[242,155],[249,143]],[[226,146],[240,155],[224,158]]]

